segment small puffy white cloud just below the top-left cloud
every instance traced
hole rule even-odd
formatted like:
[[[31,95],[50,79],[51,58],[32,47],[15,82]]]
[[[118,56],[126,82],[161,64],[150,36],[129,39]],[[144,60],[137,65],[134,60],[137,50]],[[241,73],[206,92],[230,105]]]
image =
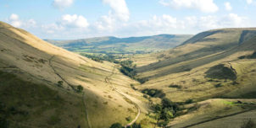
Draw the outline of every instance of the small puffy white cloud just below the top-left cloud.
[[[75,27],[75,28],[87,28],[89,26],[89,23],[87,22],[87,19],[81,15],[70,15],[65,14],[62,16],[61,24],[68,27]]]

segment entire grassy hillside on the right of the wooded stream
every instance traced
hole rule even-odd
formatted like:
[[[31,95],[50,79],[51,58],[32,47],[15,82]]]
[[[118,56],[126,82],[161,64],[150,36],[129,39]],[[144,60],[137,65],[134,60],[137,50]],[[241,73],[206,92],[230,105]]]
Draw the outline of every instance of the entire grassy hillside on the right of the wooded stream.
[[[213,31],[196,35],[170,51],[131,58],[138,66],[136,77],[148,79],[135,88],[161,92],[173,102],[190,104],[180,106],[171,127],[240,128],[247,118],[256,120],[255,30]],[[235,104],[237,101],[242,104]]]

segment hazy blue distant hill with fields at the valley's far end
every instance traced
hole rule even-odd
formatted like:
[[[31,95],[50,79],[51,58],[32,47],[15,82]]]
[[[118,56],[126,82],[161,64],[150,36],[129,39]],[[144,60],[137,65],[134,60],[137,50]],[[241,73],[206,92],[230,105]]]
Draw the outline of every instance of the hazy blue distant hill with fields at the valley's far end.
[[[81,40],[46,40],[69,51],[90,53],[132,54],[163,51],[181,45],[192,35],[153,35],[116,38],[96,37]]]

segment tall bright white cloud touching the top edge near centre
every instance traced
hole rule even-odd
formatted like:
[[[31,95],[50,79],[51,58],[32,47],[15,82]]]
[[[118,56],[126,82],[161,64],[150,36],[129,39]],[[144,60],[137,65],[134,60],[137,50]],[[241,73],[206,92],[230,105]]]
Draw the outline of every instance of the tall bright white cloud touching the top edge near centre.
[[[112,11],[110,12],[116,18],[122,21],[128,21],[130,19],[129,9],[126,6],[125,0],[103,0],[103,3],[109,4]]]

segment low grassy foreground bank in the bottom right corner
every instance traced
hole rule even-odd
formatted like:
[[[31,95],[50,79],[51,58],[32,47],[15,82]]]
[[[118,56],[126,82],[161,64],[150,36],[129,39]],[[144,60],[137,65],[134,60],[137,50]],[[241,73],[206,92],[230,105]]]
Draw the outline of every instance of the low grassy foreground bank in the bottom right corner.
[[[241,128],[244,121],[256,119],[255,99],[209,99],[184,106],[181,115],[171,121],[172,128]]]

